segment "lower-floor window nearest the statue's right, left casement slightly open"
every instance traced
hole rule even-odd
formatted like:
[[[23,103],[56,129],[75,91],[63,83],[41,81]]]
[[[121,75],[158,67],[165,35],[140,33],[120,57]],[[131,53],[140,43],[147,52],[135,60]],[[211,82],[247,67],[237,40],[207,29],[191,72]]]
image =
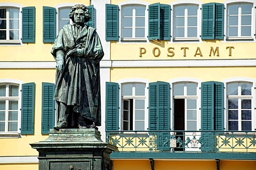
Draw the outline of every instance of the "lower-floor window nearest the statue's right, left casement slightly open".
[[[145,83],[122,84],[122,130],[145,130]]]

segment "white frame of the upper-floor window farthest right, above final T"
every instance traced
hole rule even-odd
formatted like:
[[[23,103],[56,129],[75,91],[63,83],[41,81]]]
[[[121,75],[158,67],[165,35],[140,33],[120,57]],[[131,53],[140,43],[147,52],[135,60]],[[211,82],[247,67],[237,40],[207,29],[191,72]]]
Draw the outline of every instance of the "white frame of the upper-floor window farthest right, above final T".
[[[228,36],[228,6],[229,5],[234,5],[234,4],[251,4],[252,5],[252,13],[251,13],[251,36],[241,36],[241,7],[238,8],[238,36],[237,37],[232,37],[232,36]],[[227,35],[227,40],[253,40],[254,39],[254,33],[255,33],[255,3],[251,2],[251,1],[232,1],[232,3],[227,3],[226,4],[226,15],[225,15],[225,28],[224,29],[226,31],[225,35]]]

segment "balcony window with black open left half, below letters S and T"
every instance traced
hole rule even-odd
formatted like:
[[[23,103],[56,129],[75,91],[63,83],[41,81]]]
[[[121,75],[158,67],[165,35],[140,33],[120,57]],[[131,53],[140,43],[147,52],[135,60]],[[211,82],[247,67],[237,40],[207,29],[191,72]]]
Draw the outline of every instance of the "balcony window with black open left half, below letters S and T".
[[[174,83],[174,130],[197,130],[197,83]]]

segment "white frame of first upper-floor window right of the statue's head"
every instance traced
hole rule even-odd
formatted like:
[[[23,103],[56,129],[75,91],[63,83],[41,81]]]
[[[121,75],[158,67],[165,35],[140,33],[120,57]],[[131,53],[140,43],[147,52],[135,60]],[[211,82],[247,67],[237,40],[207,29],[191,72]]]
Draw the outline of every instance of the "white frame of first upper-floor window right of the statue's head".
[[[125,42],[129,42],[129,41],[142,41],[142,42],[148,42],[148,39],[147,39],[147,34],[148,34],[148,5],[150,3],[148,2],[145,2],[145,1],[137,1],[137,0],[129,0],[129,1],[124,1],[124,2],[120,2],[118,3],[117,5],[119,6],[119,9],[120,9],[120,15],[119,15],[119,20],[121,22],[119,22],[119,33],[121,35],[121,38],[119,41],[125,41]],[[122,16],[122,7],[124,6],[145,6],[145,37],[143,38],[123,38],[123,23],[122,23],[122,19],[123,19],[123,16]],[[135,10],[133,10],[133,12],[135,12]],[[133,19],[133,25],[134,25],[134,29],[135,29],[135,14],[134,14],[134,19]],[[134,31],[134,36],[135,36],[135,31]]]

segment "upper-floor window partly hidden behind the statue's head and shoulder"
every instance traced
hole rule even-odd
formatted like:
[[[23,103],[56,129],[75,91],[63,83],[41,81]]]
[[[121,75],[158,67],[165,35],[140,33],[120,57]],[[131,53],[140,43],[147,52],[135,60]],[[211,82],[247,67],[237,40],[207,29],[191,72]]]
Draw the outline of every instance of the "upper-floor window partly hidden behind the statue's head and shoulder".
[[[69,24],[69,23],[72,24],[72,20],[69,19],[70,9],[71,9],[71,7],[59,8],[58,31],[60,31],[64,25]]]

